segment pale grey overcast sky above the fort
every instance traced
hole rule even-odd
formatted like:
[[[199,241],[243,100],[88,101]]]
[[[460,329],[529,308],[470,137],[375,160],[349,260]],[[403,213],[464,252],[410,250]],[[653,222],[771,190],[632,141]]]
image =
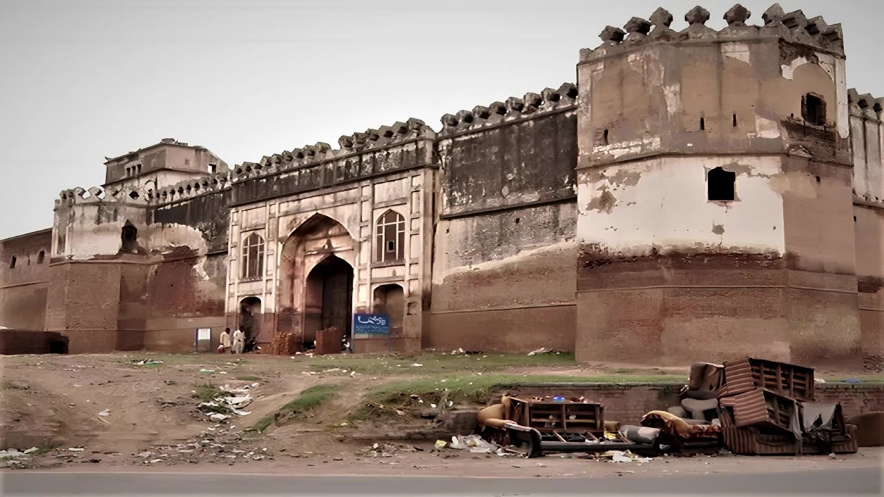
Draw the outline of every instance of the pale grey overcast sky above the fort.
[[[0,0],[0,238],[52,224],[104,156],[172,137],[227,164],[575,81],[581,48],[697,0]],[[707,26],[732,3],[707,1]],[[763,24],[770,3],[743,2]],[[841,22],[848,86],[884,96],[880,0],[781,2]]]

